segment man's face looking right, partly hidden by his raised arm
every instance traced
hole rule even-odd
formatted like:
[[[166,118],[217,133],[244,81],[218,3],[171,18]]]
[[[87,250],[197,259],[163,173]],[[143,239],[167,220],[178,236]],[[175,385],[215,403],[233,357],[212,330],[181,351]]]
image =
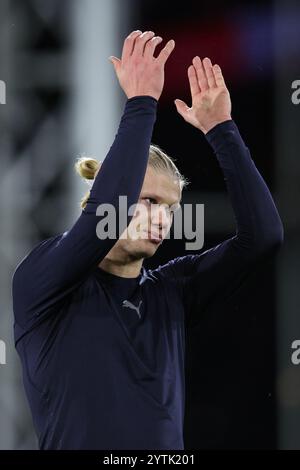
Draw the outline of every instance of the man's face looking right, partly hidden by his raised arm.
[[[167,236],[180,207],[179,182],[148,165],[135,213],[112,250],[131,259],[153,256]]]

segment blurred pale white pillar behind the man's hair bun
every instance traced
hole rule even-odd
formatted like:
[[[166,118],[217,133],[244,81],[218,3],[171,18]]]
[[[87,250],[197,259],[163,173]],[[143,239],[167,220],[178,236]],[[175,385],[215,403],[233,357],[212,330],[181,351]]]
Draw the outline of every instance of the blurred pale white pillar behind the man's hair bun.
[[[110,55],[121,56],[129,33],[128,1],[76,0],[72,8],[74,61],[70,123],[75,156],[92,156],[103,161],[112,145],[126,97],[115,76]],[[121,30],[121,20],[124,31]],[[70,215],[87,185],[71,175],[74,197]],[[72,211],[73,209],[73,211]]]

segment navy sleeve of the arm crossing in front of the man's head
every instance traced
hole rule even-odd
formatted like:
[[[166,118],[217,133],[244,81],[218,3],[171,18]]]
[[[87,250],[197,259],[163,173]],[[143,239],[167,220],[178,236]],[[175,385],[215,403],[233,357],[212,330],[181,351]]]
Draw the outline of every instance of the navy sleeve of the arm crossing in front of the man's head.
[[[13,275],[16,322],[40,318],[74,290],[110,251],[116,239],[100,239],[97,207],[111,204],[118,220],[119,196],[135,204],[143,184],[156,119],[157,100],[127,100],[118,133],[101,166],[85,209],[65,233],[43,241],[17,266]],[[127,216],[127,223],[130,218]],[[126,228],[126,227],[124,227]]]

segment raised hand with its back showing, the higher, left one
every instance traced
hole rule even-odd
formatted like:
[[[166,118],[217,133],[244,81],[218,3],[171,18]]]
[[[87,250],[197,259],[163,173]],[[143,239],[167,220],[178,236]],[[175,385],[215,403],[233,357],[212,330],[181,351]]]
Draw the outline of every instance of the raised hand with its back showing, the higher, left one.
[[[153,31],[133,31],[124,41],[122,58],[109,58],[127,98],[149,95],[159,99],[164,86],[165,63],[175,46],[174,40],[168,41],[158,57],[154,57],[161,41]]]

